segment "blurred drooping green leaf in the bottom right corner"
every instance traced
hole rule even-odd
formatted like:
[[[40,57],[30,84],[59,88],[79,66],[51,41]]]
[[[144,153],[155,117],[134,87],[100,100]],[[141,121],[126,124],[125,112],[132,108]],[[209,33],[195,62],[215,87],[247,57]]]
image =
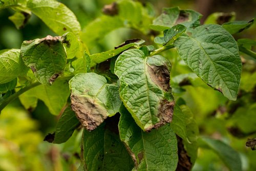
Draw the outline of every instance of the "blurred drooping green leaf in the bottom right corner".
[[[203,137],[201,138],[201,145],[207,145],[214,152],[216,152],[221,160],[231,171],[241,171],[242,163],[240,155],[237,151],[234,151],[229,145],[223,143],[220,140],[210,139]]]

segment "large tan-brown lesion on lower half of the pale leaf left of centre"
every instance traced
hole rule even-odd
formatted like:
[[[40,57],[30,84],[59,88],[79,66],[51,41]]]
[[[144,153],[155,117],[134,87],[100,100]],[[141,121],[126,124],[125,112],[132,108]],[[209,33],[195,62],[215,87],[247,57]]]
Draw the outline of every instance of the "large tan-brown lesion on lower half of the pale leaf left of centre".
[[[93,98],[71,93],[71,107],[81,125],[88,131],[96,129],[107,117],[107,111]]]

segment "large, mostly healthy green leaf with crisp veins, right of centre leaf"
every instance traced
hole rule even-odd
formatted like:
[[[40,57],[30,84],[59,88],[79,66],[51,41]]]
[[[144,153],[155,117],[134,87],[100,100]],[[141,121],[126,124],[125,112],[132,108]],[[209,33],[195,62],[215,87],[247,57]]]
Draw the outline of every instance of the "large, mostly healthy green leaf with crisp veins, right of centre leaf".
[[[219,25],[199,26],[174,42],[180,57],[203,81],[236,100],[242,62],[236,40]]]

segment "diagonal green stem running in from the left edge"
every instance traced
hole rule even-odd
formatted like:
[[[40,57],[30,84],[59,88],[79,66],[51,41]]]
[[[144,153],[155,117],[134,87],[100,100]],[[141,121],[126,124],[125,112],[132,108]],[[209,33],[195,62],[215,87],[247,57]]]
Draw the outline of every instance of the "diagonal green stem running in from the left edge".
[[[11,95],[10,97],[8,97],[7,99],[5,99],[1,105],[0,105],[0,112],[5,108],[5,106],[7,104],[9,104],[10,102],[12,102],[13,100],[15,100],[19,95],[25,93],[26,91],[36,87],[36,86],[39,86],[41,83],[40,82],[35,82],[35,83],[32,83],[30,84],[29,86],[23,88],[23,89],[20,89],[18,92],[14,93],[13,95]]]

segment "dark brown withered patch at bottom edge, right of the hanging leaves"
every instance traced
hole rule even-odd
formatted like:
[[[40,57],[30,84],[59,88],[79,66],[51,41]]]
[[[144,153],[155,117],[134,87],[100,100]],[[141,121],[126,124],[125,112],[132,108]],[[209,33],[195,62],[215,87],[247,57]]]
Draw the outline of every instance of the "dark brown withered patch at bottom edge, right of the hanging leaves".
[[[176,137],[177,137],[177,141],[178,141],[178,157],[179,157],[178,166],[177,166],[176,170],[189,171],[192,168],[192,163],[190,161],[190,157],[188,156],[188,154],[184,148],[182,139],[177,135],[176,135]]]

